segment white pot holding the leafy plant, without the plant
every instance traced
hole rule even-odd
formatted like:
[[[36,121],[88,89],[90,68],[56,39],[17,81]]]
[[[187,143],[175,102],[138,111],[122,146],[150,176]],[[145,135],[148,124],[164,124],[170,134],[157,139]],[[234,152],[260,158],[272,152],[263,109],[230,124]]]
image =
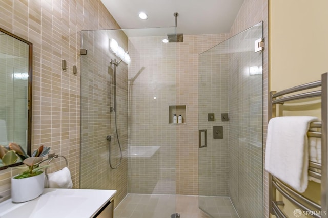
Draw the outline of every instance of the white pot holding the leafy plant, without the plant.
[[[14,179],[14,177],[11,178],[12,202],[20,203],[30,201],[42,194],[45,183],[45,172],[23,179]]]

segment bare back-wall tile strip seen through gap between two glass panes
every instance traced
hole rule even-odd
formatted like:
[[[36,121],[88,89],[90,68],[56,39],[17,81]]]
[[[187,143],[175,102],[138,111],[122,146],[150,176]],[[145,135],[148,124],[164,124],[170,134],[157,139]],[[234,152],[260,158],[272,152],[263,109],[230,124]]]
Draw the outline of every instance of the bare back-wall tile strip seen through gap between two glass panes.
[[[188,108],[187,125],[177,128],[177,194],[198,195],[199,193],[199,54],[227,38],[228,34],[186,35],[183,36],[184,42],[177,45],[177,105],[186,104]],[[212,185],[215,187],[215,184]]]

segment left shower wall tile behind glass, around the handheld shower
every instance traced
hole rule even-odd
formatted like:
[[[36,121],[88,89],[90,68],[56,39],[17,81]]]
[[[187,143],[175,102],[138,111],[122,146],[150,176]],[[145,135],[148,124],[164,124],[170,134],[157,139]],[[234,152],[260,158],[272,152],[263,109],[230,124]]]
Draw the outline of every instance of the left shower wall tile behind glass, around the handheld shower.
[[[80,188],[115,189],[115,205],[127,194],[128,142],[128,65],[116,68],[117,130],[122,148],[122,161],[117,169],[120,151],[115,129],[114,65],[118,59],[109,50],[114,38],[127,50],[127,36],[122,31],[82,31],[81,55],[81,168]],[[106,140],[110,135],[111,141]]]

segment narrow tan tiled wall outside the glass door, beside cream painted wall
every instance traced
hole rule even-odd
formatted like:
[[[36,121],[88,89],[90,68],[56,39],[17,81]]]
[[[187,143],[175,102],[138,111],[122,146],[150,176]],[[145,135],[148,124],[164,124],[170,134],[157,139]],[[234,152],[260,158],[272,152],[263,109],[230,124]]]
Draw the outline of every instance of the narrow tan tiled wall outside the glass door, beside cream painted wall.
[[[263,21],[263,37],[265,41],[265,49],[263,51],[263,164],[264,164],[264,151],[265,141],[267,138],[267,125],[268,125],[268,88],[269,88],[269,69],[268,69],[268,1],[267,0],[245,0],[241,6],[234,24],[230,30],[230,36],[254,26],[255,24]],[[268,173],[263,173],[263,217],[269,217],[268,210]],[[236,187],[230,187],[230,190]],[[230,194],[234,203],[234,198]],[[238,210],[238,207],[236,208]]]

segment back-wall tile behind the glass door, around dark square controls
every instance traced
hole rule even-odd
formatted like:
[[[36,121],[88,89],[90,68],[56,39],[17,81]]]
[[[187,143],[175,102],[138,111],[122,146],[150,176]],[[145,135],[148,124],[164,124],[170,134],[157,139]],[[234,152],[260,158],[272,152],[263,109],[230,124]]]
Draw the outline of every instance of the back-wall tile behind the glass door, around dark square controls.
[[[207,147],[199,149],[200,196],[229,194],[229,122],[221,121],[229,113],[228,41],[199,55],[199,129],[207,129]],[[215,121],[208,121],[208,113]],[[223,139],[213,138],[213,126],[223,127]]]

